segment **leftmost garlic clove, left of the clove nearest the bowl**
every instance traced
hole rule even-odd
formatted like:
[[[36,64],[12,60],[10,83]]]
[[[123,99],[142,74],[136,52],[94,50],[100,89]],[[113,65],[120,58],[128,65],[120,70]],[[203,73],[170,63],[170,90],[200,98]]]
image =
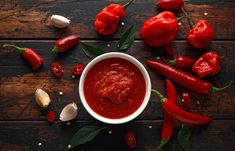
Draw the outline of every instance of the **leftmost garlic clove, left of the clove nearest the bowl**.
[[[49,95],[42,89],[37,89],[35,91],[35,100],[37,104],[42,108],[48,107],[48,105],[51,103]]]

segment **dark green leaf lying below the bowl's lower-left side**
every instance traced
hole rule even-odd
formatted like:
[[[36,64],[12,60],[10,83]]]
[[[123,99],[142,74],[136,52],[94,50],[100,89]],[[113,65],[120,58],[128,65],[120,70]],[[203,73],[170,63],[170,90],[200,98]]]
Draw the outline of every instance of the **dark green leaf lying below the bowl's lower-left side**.
[[[106,127],[100,127],[100,126],[96,126],[96,125],[82,127],[81,129],[79,129],[76,132],[76,134],[71,139],[71,141],[69,143],[71,145],[71,147],[66,148],[65,150],[72,149],[76,146],[79,146],[81,144],[84,144],[84,143],[91,141],[103,129],[106,129]]]

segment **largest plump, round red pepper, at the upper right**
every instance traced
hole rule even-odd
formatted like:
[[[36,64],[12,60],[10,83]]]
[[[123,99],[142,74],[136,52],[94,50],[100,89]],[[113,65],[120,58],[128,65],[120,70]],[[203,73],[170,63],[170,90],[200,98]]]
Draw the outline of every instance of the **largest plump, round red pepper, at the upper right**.
[[[152,47],[160,47],[171,43],[179,30],[175,15],[163,11],[147,20],[140,30],[140,36]]]

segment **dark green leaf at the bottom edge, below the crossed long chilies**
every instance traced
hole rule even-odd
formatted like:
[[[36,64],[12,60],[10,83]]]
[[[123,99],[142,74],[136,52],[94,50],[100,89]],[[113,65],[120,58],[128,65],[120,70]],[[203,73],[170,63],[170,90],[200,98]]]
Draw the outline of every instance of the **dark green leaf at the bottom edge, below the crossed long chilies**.
[[[180,131],[178,132],[178,142],[184,151],[189,151],[189,138],[191,132],[190,128],[186,125],[182,125]]]

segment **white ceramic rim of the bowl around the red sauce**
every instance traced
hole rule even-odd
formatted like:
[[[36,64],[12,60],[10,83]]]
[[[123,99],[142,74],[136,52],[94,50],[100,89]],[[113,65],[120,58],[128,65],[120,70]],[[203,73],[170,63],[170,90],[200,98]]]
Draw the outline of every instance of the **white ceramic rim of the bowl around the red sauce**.
[[[107,117],[103,117],[99,114],[97,114],[95,111],[93,111],[93,109],[88,105],[85,96],[84,96],[84,82],[85,82],[85,78],[86,75],[88,73],[88,71],[98,62],[100,62],[101,60],[107,59],[107,58],[122,58],[125,59],[127,61],[132,62],[134,65],[136,65],[136,67],[139,68],[139,70],[141,71],[141,73],[143,74],[144,80],[145,80],[145,84],[146,84],[146,93],[145,93],[145,97],[144,100],[142,102],[142,104],[140,105],[140,107],[133,112],[131,115],[120,118],[120,119],[111,119],[111,118],[107,118]],[[122,124],[122,123],[126,123],[128,121],[133,120],[134,118],[136,118],[140,113],[142,113],[142,111],[145,109],[145,107],[148,104],[149,98],[150,98],[150,94],[151,94],[151,82],[150,82],[150,78],[148,75],[148,72],[146,71],[146,69],[144,68],[144,66],[134,57],[124,54],[124,53],[119,53],[119,52],[110,52],[110,53],[105,53],[103,55],[100,55],[98,57],[96,57],[95,59],[93,59],[90,63],[87,64],[87,66],[85,67],[81,77],[80,77],[80,82],[79,82],[79,95],[80,95],[80,99],[82,101],[83,106],[85,107],[85,109],[88,111],[88,113],[90,115],[92,115],[94,118],[96,118],[97,120],[104,122],[104,123],[108,123],[108,124]]]

